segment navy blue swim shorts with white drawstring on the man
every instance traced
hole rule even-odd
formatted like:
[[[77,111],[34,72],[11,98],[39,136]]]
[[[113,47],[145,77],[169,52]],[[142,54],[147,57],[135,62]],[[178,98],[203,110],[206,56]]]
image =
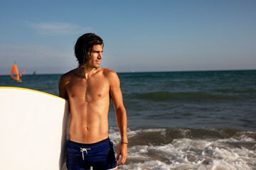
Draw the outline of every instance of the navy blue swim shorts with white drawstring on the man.
[[[109,138],[93,144],[80,144],[68,141],[68,170],[107,170],[116,169],[113,143]]]

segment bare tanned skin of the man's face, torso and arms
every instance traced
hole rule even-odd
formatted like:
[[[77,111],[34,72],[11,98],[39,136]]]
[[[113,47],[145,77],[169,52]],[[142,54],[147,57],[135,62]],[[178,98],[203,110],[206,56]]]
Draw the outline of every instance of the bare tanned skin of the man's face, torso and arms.
[[[127,115],[117,74],[100,67],[102,45],[93,45],[90,60],[82,67],[63,74],[59,95],[70,103],[70,140],[91,144],[108,137],[107,114],[112,98],[121,142],[127,142]],[[121,155],[122,159],[119,160]],[[117,166],[127,158],[127,145],[121,143],[117,151]]]

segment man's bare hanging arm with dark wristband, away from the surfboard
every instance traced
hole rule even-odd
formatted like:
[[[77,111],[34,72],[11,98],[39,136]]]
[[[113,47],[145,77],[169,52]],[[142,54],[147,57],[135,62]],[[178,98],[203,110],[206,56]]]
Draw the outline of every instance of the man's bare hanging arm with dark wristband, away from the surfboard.
[[[117,74],[114,71],[110,71],[108,75],[110,79],[110,95],[114,104],[114,110],[117,118],[117,126],[121,135],[121,142],[117,151],[117,159],[121,155],[122,159],[117,163],[117,166],[124,164],[127,159],[127,114],[124,108],[122,99],[122,92],[120,89],[120,82]]]

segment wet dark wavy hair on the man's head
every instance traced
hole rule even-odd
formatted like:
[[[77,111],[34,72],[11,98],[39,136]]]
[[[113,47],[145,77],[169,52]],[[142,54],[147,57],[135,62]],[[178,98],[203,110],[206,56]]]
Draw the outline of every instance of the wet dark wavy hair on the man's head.
[[[90,58],[92,57],[92,50],[93,45],[102,45],[104,46],[103,40],[94,33],[86,33],[80,38],[78,38],[77,42],[75,43],[75,57],[78,60],[79,69],[82,70],[85,67],[85,64],[89,62]],[[88,53],[90,55],[88,55]]]

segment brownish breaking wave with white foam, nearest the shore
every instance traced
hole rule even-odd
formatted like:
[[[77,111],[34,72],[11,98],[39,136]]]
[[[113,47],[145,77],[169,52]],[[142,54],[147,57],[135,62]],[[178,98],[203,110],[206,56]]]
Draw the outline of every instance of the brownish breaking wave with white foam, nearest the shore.
[[[110,128],[118,147],[119,132]],[[128,130],[127,162],[119,169],[254,169],[256,132],[235,129]]]

